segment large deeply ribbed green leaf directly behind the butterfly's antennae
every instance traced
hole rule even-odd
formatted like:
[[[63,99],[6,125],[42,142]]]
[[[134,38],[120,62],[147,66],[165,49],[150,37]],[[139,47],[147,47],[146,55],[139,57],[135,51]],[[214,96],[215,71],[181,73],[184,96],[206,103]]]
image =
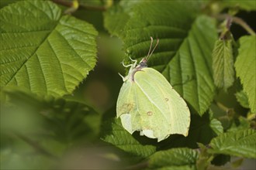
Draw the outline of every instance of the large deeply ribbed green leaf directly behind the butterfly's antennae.
[[[147,55],[150,36],[158,38],[159,46],[148,66],[160,71],[202,115],[215,93],[209,56],[217,32],[213,19],[196,17],[200,5],[199,2],[141,2],[130,8],[123,34],[116,35],[125,42],[126,53],[138,61]]]

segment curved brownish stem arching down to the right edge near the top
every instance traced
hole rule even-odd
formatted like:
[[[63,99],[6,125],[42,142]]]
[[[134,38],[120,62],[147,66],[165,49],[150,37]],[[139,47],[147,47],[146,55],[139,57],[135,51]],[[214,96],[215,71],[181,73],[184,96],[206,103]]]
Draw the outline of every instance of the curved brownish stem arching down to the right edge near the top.
[[[254,32],[253,29],[251,29],[251,27],[249,25],[247,25],[247,22],[244,22],[243,19],[240,19],[239,17],[237,16],[231,16],[231,15],[228,15],[228,14],[222,14],[222,15],[218,15],[217,16],[217,19],[227,19],[227,18],[232,18],[232,22],[236,23],[237,25],[243,27],[243,29],[245,29],[249,34],[251,34],[252,36],[255,36],[256,33]]]

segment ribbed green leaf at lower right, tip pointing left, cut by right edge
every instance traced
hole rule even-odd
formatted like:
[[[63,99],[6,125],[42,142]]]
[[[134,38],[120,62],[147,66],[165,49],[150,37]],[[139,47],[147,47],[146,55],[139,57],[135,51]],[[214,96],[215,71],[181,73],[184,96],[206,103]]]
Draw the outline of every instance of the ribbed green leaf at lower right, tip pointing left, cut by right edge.
[[[209,151],[215,154],[256,158],[256,131],[247,129],[221,134],[209,143]]]

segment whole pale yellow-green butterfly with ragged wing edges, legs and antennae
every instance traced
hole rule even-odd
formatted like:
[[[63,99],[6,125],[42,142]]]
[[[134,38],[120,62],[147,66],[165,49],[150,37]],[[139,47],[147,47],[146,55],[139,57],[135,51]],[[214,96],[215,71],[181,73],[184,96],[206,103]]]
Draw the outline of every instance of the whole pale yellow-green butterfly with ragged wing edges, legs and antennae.
[[[133,134],[157,138],[162,141],[170,134],[189,133],[190,112],[185,100],[171,87],[171,84],[157,70],[147,67],[157,44],[139,64],[133,60],[127,76],[123,77],[123,86],[116,104],[116,116],[121,118],[123,128]],[[121,75],[120,75],[121,76]]]

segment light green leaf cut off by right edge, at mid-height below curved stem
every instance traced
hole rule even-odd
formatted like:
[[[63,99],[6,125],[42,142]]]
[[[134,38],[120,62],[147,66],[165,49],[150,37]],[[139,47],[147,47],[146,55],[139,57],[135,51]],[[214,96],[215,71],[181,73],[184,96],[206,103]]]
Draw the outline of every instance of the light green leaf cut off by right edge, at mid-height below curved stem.
[[[243,36],[239,39],[235,68],[247,94],[249,106],[256,113],[256,36]]]

